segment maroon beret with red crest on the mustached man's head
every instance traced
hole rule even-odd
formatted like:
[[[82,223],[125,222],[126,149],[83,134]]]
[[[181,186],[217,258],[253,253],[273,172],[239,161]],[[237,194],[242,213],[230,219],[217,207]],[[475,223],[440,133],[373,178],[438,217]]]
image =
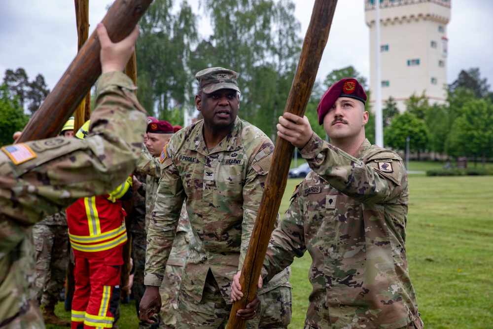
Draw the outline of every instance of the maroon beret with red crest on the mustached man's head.
[[[329,89],[327,89],[320,99],[320,103],[318,103],[317,113],[319,125],[323,123],[323,117],[327,114],[339,97],[354,98],[363,102],[363,104],[365,104],[366,101],[366,93],[363,87],[359,84],[358,80],[351,77],[346,77],[337,81],[331,85]]]

